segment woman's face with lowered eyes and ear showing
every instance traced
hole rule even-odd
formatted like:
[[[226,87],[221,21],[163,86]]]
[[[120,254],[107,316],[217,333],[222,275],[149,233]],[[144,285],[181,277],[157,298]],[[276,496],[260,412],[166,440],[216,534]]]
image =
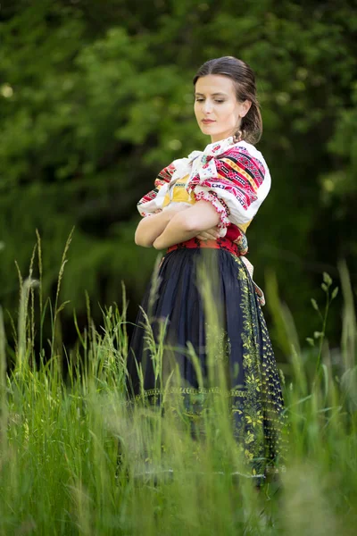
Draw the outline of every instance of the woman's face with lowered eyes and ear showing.
[[[212,143],[233,136],[250,107],[250,101],[237,101],[236,88],[227,76],[208,74],[195,83],[195,118]]]

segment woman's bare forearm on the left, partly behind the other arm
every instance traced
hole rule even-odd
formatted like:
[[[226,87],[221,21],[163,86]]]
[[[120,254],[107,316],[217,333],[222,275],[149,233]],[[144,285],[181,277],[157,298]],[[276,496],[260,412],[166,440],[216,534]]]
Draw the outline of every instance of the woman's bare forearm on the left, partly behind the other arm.
[[[187,211],[187,209],[187,205],[180,203],[172,208],[166,208],[161,213],[143,218],[137,225],[137,230],[135,231],[135,243],[137,246],[152,247],[154,240],[162,234],[175,214]]]

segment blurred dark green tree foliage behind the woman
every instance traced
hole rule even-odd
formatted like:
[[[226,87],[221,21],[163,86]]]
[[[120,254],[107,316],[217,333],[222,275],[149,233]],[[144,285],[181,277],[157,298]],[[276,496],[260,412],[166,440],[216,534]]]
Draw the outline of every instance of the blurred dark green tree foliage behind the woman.
[[[0,303],[11,326],[42,238],[45,292],[62,251],[62,338],[120,304],[129,320],[157,252],[135,246],[137,200],[162,167],[210,139],[193,113],[192,78],[235,55],[257,76],[258,148],[272,188],[248,230],[254,279],[278,282],[301,345],[320,330],[311,297],[321,274],[338,285],[345,259],[357,289],[357,10],[348,0],[13,0],[1,3]],[[35,275],[37,267],[35,267]],[[271,295],[271,292],[270,292]],[[269,296],[268,296],[269,298]],[[281,359],[271,302],[265,307]],[[338,347],[342,298],[328,320]],[[50,328],[50,327],[49,327]]]

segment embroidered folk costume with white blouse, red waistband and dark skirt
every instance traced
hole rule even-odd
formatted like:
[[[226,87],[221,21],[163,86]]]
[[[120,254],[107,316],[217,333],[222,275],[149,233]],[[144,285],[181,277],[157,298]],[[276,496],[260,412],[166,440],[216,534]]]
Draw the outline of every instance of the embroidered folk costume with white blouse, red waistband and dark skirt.
[[[187,348],[194,348],[205,377],[209,346],[216,345],[213,359],[226,371],[233,432],[253,473],[264,473],[282,454],[283,399],[262,314],[264,297],[253,283],[252,265],[244,255],[248,250],[245,231],[270,190],[268,166],[253,145],[227,138],[170,163],[154,186],[137,205],[143,217],[172,203],[194,205],[204,200],[220,215],[220,238],[195,238],[168,248],[137,317],[129,348],[129,389],[135,396],[141,393],[156,400],[171,389],[184,399],[187,415],[195,418],[221,388],[212,385],[212,380],[199,384]],[[203,275],[212,281],[218,334],[207,321],[200,288]],[[145,336],[145,314],[154,338],[159,339],[164,330],[165,343],[171,348],[162,356],[166,384],[158,380]],[[212,333],[220,339],[218,346]],[[179,385],[175,370],[179,370]]]

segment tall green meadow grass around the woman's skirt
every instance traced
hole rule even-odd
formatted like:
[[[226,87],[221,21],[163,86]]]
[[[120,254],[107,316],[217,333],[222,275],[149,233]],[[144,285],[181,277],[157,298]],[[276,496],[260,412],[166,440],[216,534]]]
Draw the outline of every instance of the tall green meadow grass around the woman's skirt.
[[[277,300],[275,320],[289,360],[283,381],[289,447],[279,481],[257,490],[244,476],[220,400],[198,440],[179,400],[168,401],[164,417],[145,403],[127,405],[125,306],[121,312],[116,306],[105,310],[97,329],[88,306],[87,329],[78,329],[77,346],[62,348],[59,297],[68,246],[53,307],[43,302],[41,262],[39,280],[32,279],[35,252],[29,278],[21,278],[10,375],[5,366],[10,335],[0,312],[0,534],[354,534],[356,323],[345,265],[340,266],[344,327],[333,356],[324,332],[336,295],[328,275],[322,283],[326,306],[320,311],[312,304],[321,331],[311,334],[310,350],[298,348],[293,323]],[[38,252],[40,261],[39,239]],[[42,339],[48,317],[53,336],[41,340],[35,356],[34,340]],[[147,337],[150,342],[149,330]],[[159,346],[158,360],[161,351]]]

